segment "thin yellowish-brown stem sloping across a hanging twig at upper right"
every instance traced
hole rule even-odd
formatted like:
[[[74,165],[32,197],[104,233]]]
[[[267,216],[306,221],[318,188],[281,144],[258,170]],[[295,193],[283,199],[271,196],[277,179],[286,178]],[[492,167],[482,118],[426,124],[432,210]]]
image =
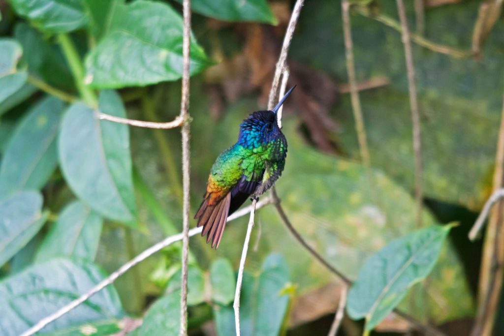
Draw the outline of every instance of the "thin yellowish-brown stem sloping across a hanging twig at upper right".
[[[359,13],[362,16],[374,19],[376,21],[379,21],[389,27],[394,28],[395,30],[399,31],[400,33],[402,32],[402,27],[399,22],[396,20],[392,19],[391,17],[382,14],[382,13],[371,13],[365,6],[352,6],[352,9],[355,8],[356,12]],[[472,57],[475,55],[475,52],[473,50],[460,50],[460,49],[455,49],[443,44],[435,43],[432,42],[420,35],[417,34],[410,34],[411,40],[415,42],[416,44],[425,47],[427,49],[430,49],[435,52],[439,52],[442,54],[447,54],[453,57],[457,58],[467,58],[467,57]]]

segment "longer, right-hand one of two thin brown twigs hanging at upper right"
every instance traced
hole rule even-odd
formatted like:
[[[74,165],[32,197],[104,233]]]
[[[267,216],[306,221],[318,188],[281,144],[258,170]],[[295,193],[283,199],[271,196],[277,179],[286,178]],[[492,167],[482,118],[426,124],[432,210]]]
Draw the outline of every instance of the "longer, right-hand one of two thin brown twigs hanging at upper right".
[[[408,87],[411,105],[411,118],[413,121],[413,152],[415,155],[415,204],[416,204],[416,226],[422,225],[422,152],[420,142],[420,116],[418,113],[418,100],[415,86],[415,67],[413,65],[413,54],[411,52],[411,41],[406,20],[406,11],[403,0],[397,0],[397,11],[401,19],[402,41],[404,44],[404,54],[406,57],[406,69],[408,72]]]

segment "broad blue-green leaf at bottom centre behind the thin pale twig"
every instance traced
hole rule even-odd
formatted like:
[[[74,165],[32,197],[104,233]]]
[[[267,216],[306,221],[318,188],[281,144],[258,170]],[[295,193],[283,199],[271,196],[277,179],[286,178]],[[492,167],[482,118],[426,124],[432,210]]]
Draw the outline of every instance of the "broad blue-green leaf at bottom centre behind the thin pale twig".
[[[240,295],[240,332],[242,335],[276,336],[280,333],[287,311],[289,271],[280,254],[270,254],[259,277],[244,273]],[[214,308],[217,332],[221,336],[235,333],[231,305]]]

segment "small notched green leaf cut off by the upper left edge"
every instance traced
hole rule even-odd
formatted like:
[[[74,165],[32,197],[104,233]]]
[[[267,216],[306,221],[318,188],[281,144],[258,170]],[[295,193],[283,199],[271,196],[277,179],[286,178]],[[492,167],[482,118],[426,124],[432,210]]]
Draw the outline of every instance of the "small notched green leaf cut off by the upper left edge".
[[[18,91],[28,77],[25,71],[17,72],[16,65],[23,52],[18,42],[0,39],[0,104]]]

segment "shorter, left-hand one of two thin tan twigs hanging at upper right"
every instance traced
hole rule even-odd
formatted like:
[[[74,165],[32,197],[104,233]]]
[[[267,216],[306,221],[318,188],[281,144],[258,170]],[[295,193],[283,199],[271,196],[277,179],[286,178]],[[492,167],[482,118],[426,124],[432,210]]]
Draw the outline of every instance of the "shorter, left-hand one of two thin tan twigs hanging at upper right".
[[[357,140],[359,142],[360,158],[364,167],[368,170],[371,169],[369,160],[369,150],[367,148],[366,130],[364,128],[364,118],[362,117],[362,108],[360,106],[359,92],[357,90],[357,80],[355,78],[355,63],[353,60],[353,43],[352,32],[350,29],[350,3],[348,0],[341,2],[341,9],[343,15],[343,35],[345,38],[345,54],[348,72],[348,84],[350,87],[350,99],[352,102],[352,111],[355,119],[355,129],[357,131]]]

